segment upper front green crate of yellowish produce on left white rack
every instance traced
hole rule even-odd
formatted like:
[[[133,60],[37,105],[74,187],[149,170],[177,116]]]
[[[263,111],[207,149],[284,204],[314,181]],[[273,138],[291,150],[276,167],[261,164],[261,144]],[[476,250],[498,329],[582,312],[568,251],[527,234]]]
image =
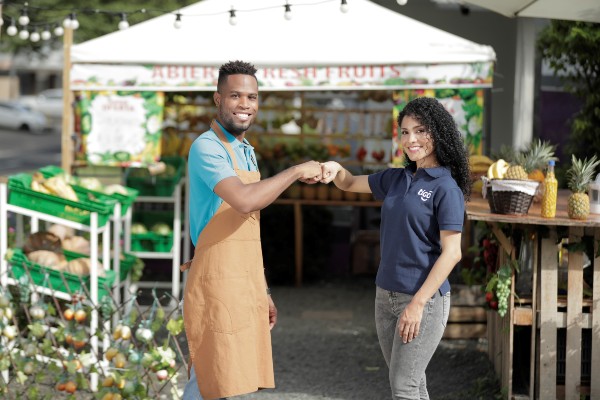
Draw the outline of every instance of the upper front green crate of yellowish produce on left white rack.
[[[97,196],[95,200],[92,200],[87,193],[77,188],[73,188],[73,190],[79,201],[36,192],[31,189],[32,180],[32,176],[25,173],[10,176],[8,178],[8,203],[84,225],[90,225],[91,213],[96,212],[98,213],[98,226],[106,224],[116,204],[116,200],[106,196]]]

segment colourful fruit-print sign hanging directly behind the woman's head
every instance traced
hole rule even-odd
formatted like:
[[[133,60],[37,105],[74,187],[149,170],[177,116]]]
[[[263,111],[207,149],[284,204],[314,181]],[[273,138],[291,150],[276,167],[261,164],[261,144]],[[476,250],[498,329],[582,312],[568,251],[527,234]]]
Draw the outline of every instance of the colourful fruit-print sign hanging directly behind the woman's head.
[[[392,163],[395,166],[402,166],[404,163],[404,152],[398,137],[398,115],[406,103],[417,97],[438,99],[454,118],[469,154],[483,154],[482,89],[401,90],[393,94]]]

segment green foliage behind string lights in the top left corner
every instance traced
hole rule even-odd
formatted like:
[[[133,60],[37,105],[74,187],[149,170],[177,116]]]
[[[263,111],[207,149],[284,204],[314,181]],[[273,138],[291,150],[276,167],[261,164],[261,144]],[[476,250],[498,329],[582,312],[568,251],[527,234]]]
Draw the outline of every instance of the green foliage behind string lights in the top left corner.
[[[197,0],[36,0],[29,2],[28,15],[31,27],[43,29],[47,24],[50,31],[73,11],[79,21],[79,29],[74,32],[73,42],[81,43],[98,36],[118,30],[121,13],[127,14],[129,25],[143,22],[158,17],[165,13],[175,12],[182,7],[196,3]],[[4,28],[10,24],[10,18],[20,15],[25,1],[4,1],[3,15],[5,18]],[[226,7],[225,7],[226,8]],[[140,12],[145,9],[146,12]],[[101,12],[96,12],[100,10]],[[175,20],[175,17],[173,17]],[[50,46],[60,48],[61,37],[52,35]],[[17,53],[41,51],[47,42],[39,41],[33,43],[30,40],[21,40],[18,35],[10,37],[3,33],[0,41],[0,51]]]

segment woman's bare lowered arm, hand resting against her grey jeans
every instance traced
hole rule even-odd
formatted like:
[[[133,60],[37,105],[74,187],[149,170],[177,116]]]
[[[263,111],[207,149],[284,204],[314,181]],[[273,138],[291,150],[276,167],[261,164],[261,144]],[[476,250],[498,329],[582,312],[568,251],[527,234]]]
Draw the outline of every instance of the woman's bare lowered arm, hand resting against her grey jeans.
[[[461,232],[440,231],[440,240],[442,243],[442,254],[433,264],[429,275],[421,288],[415,293],[412,301],[406,306],[400,316],[398,323],[398,332],[402,336],[404,343],[410,342],[419,334],[421,326],[421,317],[427,301],[442,286],[442,283],[448,278],[452,269],[460,261],[462,252],[460,249]]]

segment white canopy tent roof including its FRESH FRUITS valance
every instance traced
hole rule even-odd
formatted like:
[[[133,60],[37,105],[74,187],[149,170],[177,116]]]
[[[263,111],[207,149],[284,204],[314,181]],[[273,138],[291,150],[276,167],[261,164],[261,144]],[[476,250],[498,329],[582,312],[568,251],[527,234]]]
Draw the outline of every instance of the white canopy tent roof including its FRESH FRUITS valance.
[[[75,45],[71,89],[214,90],[218,67],[252,62],[273,90],[490,87],[494,50],[368,0],[205,0]],[[229,24],[229,7],[237,25]]]

